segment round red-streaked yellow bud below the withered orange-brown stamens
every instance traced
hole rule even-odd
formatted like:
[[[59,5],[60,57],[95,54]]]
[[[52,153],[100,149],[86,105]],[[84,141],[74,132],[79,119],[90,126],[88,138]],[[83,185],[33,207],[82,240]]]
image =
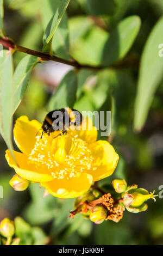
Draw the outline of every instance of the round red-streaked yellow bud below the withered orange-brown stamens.
[[[108,215],[108,211],[100,204],[94,206],[90,211],[90,220],[101,224]]]

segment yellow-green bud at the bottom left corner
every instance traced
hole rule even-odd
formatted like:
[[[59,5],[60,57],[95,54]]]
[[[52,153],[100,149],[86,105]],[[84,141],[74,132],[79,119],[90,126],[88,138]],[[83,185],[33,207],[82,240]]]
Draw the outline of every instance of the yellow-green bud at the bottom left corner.
[[[0,233],[4,237],[10,237],[15,233],[14,221],[4,218],[0,223]]]

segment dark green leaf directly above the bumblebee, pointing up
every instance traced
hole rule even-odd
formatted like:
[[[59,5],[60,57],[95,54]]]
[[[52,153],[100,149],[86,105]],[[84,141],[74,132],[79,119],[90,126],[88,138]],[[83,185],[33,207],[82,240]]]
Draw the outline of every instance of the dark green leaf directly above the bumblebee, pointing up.
[[[63,107],[73,107],[76,101],[77,92],[77,75],[74,70],[69,71],[60,82],[57,91],[52,95],[48,109],[59,109]]]

